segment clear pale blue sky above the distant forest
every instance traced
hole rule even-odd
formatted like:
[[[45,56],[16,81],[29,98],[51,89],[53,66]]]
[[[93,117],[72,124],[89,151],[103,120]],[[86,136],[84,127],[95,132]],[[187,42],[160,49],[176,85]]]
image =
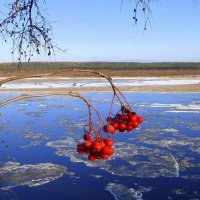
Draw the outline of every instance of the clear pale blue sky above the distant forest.
[[[152,27],[134,26],[134,0],[47,0],[54,41],[68,49],[51,61],[200,61],[200,2],[152,3]],[[59,3],[58,3],[59,2]],[[184,2],[184,3],[183,3]],[[0,62],[12,62],[11,46],[2,45]],[[49,61],[48,57],[33,58]]]

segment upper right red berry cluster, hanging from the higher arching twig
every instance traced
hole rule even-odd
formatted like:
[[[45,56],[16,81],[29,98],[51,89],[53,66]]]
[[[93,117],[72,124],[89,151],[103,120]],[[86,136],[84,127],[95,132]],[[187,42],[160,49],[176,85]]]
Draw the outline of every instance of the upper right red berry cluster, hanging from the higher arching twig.
[[[113,118],[107,117],[107,124],[103,127],[104,132],[115,134],[119,132],[131,132],[143,122],[143,117],[137,116],[135,112],[118,113]]]

